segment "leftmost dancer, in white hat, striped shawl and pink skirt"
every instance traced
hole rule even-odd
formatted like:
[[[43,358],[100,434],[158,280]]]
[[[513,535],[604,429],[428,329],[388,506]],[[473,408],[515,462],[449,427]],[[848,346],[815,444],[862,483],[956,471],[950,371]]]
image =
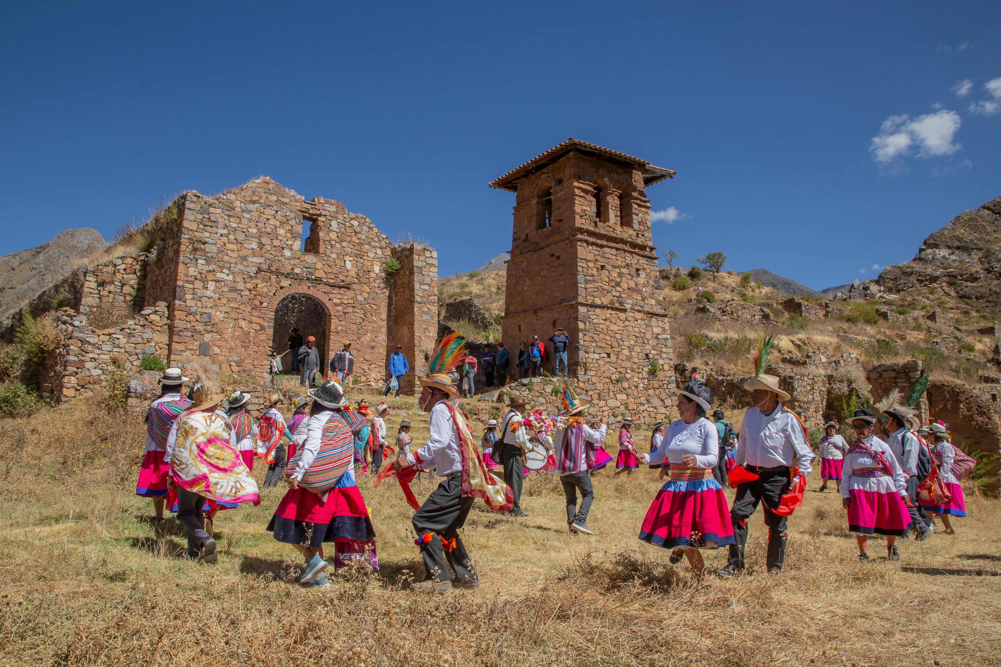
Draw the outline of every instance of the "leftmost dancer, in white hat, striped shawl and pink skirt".
[[[168,368],[160,378],[160,397],[149,406],[146,414],[146,449],[139,469],[135,494],[153,499],[156,521],[163,521],[163,505],[167,499],[167,476],[170,466],[163,462],[167,451],[167,436],[182,412],[191,407],[191,401],[181,396],[183,383],[188,378],[181,369]]]

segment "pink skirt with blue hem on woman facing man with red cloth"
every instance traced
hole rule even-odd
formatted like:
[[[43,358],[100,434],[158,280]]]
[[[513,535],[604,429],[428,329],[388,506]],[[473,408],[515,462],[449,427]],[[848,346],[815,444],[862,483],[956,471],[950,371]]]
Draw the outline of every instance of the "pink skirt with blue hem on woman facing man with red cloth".
[[[640,539],[665,549],[716,549],[735,544],[723,487],[709,468],[672,466],[640,529]]]

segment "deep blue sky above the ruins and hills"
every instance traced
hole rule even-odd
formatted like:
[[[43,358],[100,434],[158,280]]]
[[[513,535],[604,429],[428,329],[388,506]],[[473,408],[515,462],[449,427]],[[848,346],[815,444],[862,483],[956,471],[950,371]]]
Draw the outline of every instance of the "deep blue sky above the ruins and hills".
[[[680,264],[874,277],[1001,195],[998,25],[997,2],[3,2],[0,254],[266,174],[465,271],[510,248],[487,181],[573,136],[678,171],[648,196]]]

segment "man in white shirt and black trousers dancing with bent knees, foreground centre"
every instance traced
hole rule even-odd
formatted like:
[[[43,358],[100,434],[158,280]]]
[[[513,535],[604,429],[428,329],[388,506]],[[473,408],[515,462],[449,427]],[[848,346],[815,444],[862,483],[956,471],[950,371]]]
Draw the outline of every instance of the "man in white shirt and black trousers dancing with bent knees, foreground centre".
[[[444,374],[435,373],[419,381],[422,390],[417,405],[430,413],[430,437],[420,449],[405,455],[400,452],[392,468],[396,472],[413,465],[421,470],[434,468],[442,479],[413,515],[413,530],[418,535],[426,579],[412,588],[425,591],[452,588],[447,565],[455,572],[454,586],[479,588],[476,572],[458,536],[474,500],[472,496],[462,496],[462,452],[455,422],[445,405],[446,401],[458,398],[458,389]]]

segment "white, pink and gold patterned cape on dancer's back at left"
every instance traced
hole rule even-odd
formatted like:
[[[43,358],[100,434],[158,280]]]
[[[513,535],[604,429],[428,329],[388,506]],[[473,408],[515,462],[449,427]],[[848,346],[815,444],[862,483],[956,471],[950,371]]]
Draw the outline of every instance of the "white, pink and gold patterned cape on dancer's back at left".
[[[190,412],[180,418],[171,470],[179,486],[206,498],[260,503],[257,482],[230,444],[229,424],[213,412]]]

